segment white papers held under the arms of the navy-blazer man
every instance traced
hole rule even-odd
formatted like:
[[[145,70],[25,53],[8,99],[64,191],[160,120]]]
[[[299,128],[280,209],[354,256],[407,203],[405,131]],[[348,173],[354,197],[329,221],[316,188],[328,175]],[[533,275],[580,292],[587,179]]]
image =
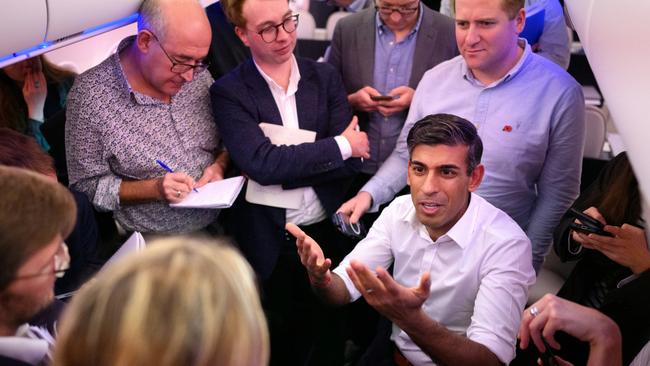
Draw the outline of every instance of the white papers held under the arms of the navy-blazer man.
[[[316,140],[314,131],[287,128],[266,122],[260,123],[259,126],[273,145],[298,145]],[[246,201],[265,206],[298,209],[302,206],[303,192],[304,188],[282,189],[281,185],[263,186],[249,179]]]

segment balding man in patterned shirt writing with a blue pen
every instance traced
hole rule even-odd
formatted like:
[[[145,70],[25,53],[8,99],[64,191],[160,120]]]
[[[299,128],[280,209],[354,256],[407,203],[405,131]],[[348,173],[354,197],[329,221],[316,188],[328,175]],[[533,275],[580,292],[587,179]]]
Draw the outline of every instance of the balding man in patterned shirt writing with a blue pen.
[[[138,34],[70,92],[70,184],[100,211],[113,211],[127,231],[192,232],[216,218],[216,210],[169,207],[222,179],[228,160],[210,108],[213,80],[204,72],[210,39],[198,1],[146,0]]]

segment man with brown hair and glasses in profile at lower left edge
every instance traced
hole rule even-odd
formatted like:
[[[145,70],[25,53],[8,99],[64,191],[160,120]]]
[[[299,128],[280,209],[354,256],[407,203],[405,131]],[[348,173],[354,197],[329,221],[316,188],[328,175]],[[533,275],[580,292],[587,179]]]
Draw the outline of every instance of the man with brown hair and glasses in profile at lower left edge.
[[[76,211],[56,181],[0,166],[0,365],[49,363],[52,336],[27,322],[50,305],[54,280],[68,267],[63,238]]]

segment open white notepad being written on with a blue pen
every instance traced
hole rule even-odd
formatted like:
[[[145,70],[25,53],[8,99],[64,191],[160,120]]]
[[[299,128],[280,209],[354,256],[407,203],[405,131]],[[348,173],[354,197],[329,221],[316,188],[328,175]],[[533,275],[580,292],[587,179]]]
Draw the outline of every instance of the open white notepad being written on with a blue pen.
[[[244,177],[234,177],[210,182],[197,192],[190,192],[187,197],[179,203],[170,203],[170,207],[185,208],[228,208],[239,195],[244,185]]]

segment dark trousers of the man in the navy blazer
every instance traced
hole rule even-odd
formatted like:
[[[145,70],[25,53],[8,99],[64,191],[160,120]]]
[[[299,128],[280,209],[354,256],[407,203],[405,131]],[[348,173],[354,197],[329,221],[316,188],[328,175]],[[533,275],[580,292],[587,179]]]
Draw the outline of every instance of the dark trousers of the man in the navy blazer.
[[[354,245],[329,219],[301,229],[319,243],[332,268]],[[343,365],[347,309],[328,306],[313,293],[291,234],[263,284],[262,306],[271,333],[271,365]]]

